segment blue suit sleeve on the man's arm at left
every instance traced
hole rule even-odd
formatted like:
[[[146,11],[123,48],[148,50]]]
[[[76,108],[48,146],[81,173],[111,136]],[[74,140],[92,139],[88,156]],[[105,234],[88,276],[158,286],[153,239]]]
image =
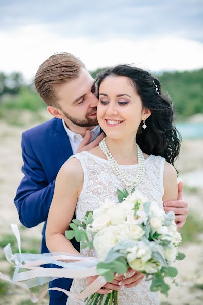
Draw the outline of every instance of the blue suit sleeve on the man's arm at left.
[[[47,220],[54,194],[55,180],[48,183],[43,167],[31,147],[29,137],[22,134],[22,172],[14,203],[21,223],[27,228]]]

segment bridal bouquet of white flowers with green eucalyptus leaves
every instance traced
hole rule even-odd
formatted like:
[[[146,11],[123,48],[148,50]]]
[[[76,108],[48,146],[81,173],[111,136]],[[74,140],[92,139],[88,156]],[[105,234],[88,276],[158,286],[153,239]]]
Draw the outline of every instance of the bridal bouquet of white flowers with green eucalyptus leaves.
[[[68,239],[76,238],[81,248],[95,249],[99,263],[97,272],[112,282],[115,273],[128,268],[140,271],[151,280],[150,290],[168,295],[170,286],[165,277],[173,279],[178,271],[172,267],[175,260],[184,259],[178,252],[181,235],[177,231],[174,212],[165,213],[157,204],[146,200],[139,192],[131,194],[118,190],[120,204],[106,199],[84,218],[72,220],[73,230],[65,232]],[[161,203],[162,204],[162,203]],[[117,304],[117,291],[108,295],[94,293],[86,304]]]

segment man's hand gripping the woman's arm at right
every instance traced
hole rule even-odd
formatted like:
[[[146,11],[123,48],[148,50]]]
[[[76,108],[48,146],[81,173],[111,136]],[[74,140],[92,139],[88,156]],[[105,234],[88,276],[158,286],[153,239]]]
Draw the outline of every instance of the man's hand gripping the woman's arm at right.
[[[188,214],[188,204],[187,202],[182,200],[183,196],[183,182],[180,181],[178,184],[178,198],[174,201],[166,201],[164,202],[164,211],[170,212],[173,211],[175,213],[175,222],[177,224],[177,228],[180,229],[186,222],[187,214]]]

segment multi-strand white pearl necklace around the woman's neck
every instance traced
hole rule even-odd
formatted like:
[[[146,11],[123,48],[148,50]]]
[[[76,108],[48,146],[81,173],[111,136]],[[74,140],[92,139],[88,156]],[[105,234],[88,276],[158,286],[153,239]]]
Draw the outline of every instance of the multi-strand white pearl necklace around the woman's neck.
[[[142,154],[142,150],[136,144],[137,146],[137,156],[138,156],[138,173],[134,180],[127,179],[126,175],[120,170],[119,164],[116,162],[114,157],[109,151],[109,148],[107,147],[105,138],[99,143],[99,147],[101,151],[103,151],[104,155],[107,157],[107,160],[110,162],[113,171],[115,172],[116,176],[127,186],[127,187],[135,187],[139,184],[139,182],[142,180],[145,172],[145,164],[144,164],[144,157]]]

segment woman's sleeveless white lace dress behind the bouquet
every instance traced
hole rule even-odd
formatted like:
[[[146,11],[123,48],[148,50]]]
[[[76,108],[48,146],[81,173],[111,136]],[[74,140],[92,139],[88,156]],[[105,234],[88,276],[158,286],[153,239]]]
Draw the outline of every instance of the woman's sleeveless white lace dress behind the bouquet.
[[[81,220],[87,211],[93,211],[104,202],[105,198],[118,202],[117,188],[123,190],[123,182],[115,175],[109,161],[95,156],[88,151],[82,151],[70,158],[77,158],[84,172],[84,183],[76,206],[76,218]],[[142,192],[145,198],[157,203],[163,209],[163,169],[165,159],[160,156],[150,155],[145,159],[145,173],[136,190]],[[138,164],[120,165],[121,170],[130,179],[136,176]],[[127,188],[128,192],[131,189]],[[81,249],[81,254],[96,257],[94,249]],[[124,288],[118,292],[119,305],[157,305],[158,293],[150,291],[151,281],[145,278],[132,288]],[[86,279],[74,279],[70,291],[79,293],[88,286]],[[68,298],[66,305],[82,305],[82,300]]]

